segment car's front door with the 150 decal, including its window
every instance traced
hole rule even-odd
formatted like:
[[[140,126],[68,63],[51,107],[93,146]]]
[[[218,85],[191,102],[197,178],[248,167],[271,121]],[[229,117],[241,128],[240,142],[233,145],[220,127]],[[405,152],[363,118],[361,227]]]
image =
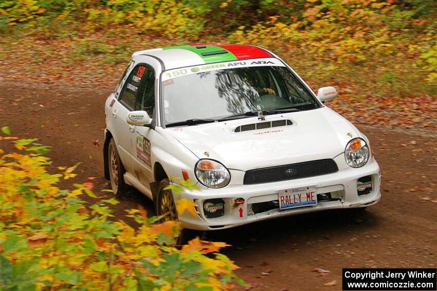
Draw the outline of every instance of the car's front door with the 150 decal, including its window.
[[[155,124],[155,82],[156,74],[152,66],[144,64],[145,72],[141,87],[137,95],[135,110],[144,110],[152,118],[152,126],[135,126],[135,150],[132,152],[132,161],[136,178],[146,188],[154,181],[152,171],[151,144],[156,132],[152,129]]]

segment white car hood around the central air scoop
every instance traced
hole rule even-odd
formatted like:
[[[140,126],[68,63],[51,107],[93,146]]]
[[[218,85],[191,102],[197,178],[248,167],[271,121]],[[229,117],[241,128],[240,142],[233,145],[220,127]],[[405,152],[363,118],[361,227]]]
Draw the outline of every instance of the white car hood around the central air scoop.
[[[284,119],[292,124],[234,132],[242,125]],[[265,121],[254,117],[166,130],[199,159],[213,159],[243,171],[333,159],[358,137],[347,120],[327,107],[268,115]]]

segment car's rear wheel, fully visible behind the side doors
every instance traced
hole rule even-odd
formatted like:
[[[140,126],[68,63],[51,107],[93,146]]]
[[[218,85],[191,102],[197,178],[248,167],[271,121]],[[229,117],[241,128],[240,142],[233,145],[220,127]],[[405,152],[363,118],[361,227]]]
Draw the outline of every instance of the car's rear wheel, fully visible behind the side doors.
[[[108,145],[108,167],[110,172],[111,188],[115,196],[120,197],[126,190],[123,174],[126,171],[118,156],[117,146],[113,138]]]

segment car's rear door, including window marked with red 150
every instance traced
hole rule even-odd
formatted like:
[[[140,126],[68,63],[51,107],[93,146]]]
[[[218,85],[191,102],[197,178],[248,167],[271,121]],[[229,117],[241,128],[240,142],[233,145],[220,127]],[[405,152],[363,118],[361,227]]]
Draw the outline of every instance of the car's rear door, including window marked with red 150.
[[[141,85],[144,84],[142,82],[144,72],[145,65],[141,64],[135,66],[129,72],[119,93],[118,102],[115,102],[112,106],[112,118],[116,127],[114,139],[117,144],[117,151],[124,168],[129,173],[134,172],[132,151],[135,148],[135,126],[128,124],[126,117],[130,111],[135,110],[137,96],[140,95]]]

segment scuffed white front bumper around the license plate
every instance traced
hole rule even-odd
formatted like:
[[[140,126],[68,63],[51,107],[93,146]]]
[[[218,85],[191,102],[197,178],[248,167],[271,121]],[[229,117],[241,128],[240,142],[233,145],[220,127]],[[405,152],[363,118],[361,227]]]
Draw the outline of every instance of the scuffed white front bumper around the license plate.
[[[366,195],[358,195],[357,181],[361,177],[370,176],[372,190]],[[278,201],[278,192],[283,189],[303,186],[316,186],[319,195],[329,193],[331,199],[319,201],[317,205],[280,210],[275,208]],[[322,196],[320,196],[322,197]],[[260,220],[267,220],[285,216],[303,214],[328,209],[359,208],[373,205],[379,201],[380,172],[378,163],[371,159],[361,168],[345,168],[332,174],[252,185],[228,185],[221,189],[202,189],[201,191],[186,190],[175,197],[186,198],[196,203],[196,216],[185,211],[179,214],[179,221],[185,228],[197,230],[212,230],[235,227]],[[235,205],[236,198],[243,198],[245,203]],[[206,218],[204,201],[223,199],[225,202],[224,215],[217,218]],[[267,206],[268,207],[260,207]],[[240,210],[240,208],[242,210]],[[266,209],[265,211],[263,211]]]

